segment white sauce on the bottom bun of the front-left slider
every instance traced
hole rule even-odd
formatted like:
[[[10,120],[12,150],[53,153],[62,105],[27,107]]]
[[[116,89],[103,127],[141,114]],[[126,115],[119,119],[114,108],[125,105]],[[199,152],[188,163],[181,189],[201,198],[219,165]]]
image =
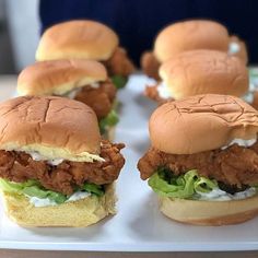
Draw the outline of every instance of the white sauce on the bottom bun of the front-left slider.
[[[78,200],[84,199],[89,196],[91,196],[90,192],[77,191],[73,195],[71,195],[69,197],[69,199],[66,200],[66,202],[78,201]],[[48,198],[40,199],[40,198],[37,198],[37,197],[30,197],[30,196],[27,196],[27,198],[30,199],[30,203],[32,203],[34,207],[57,206],[57,203],[55,201],[49,200]]]

